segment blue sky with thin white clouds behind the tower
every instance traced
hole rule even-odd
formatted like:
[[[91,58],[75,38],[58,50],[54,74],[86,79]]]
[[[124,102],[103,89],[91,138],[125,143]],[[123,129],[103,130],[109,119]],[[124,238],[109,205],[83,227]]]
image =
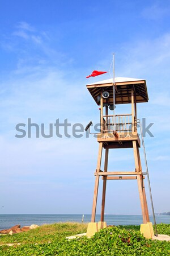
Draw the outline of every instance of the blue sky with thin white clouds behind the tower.
[[[58,118],[98,122],[86,84],[110,77],[86,76],[107,71],[113,52],[116,76],[147,81],[150,100],[138,115],[154,122],[145,143],[155,212],[169,211],[169,13],[167,0],[1,2],[0,214],[91,213],[96,139],[36,138],[34,130],[32,138],[15,138],[15,126],[31,118],[48,133]],[[114,170],[134,170],[131,149],[112,150]],[[97,213],[100,197],[101,183]],[[137,183],[108,182],[105,211],[141,214]]]

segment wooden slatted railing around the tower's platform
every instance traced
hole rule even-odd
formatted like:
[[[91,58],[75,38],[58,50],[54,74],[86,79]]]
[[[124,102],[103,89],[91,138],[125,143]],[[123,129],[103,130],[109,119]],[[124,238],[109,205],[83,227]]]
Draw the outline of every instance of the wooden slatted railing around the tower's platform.
[[[118,133],[137,131],[136,122],[133,125],[132,114],[103,115],[103,119],[104,133],[112,131],[117,131]]]

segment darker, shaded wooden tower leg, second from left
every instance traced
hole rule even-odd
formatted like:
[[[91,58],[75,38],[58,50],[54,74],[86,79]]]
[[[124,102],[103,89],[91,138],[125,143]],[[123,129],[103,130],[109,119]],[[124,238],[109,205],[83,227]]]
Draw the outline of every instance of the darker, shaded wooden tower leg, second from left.
[[[105,149],[105,160],[104,160],[104,172],[108,171],[108,153],[109,149]],[[104,221],[104,208],[105,208],[105,192],[107,185],[107,176],[104,176],[103,179],[103,193],[102,193],[102,201],[101,201],[101,221]]]

